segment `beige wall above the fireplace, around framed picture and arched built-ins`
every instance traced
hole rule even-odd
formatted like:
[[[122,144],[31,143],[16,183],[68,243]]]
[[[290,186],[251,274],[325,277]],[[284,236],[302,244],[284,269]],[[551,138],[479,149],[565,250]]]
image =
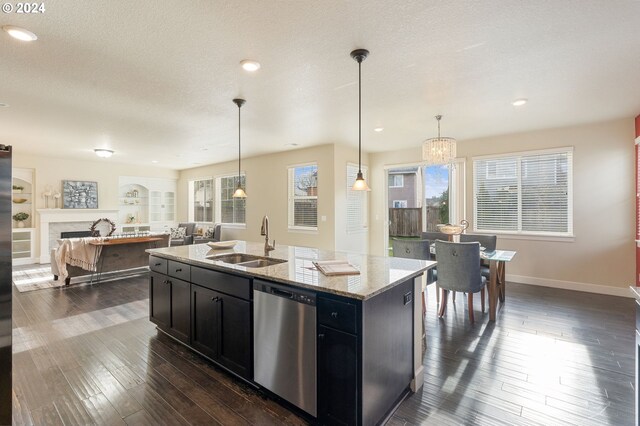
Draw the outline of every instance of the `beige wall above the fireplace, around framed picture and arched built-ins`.
[[[63,180],[88,180],[98,182],[98,207],[100,209],[118,209],[120,176],[144,176],[177,179],[175,170],[158,167],[132,166],[118,164],[114,159],[97,159],[95,161],[80,162],[78,160],[25,155],[19,146],[13,147],[13,167],[34,169],[33,199],[35,209],[44,208],[44,198],[41,194],[45,187],[62,190]],[[53,207],[53,206],[49,206]],[[35,214],[34,224],[37,226],[38,215]],[[98,218],[96,218],[98,219]],[[36,232],[36,253],[40,253],[40,234]]]

